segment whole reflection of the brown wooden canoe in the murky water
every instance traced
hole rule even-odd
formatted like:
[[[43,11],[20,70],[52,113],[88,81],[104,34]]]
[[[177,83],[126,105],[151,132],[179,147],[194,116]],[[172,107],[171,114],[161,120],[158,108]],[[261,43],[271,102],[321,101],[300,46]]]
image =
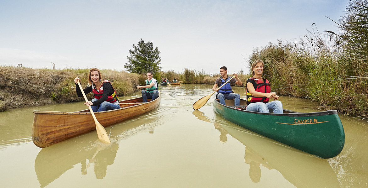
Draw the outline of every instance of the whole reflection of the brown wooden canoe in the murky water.
[[[153,114],[153,115],[152,115]],[[158,118],[151,113],[107,129],[112,140],[111,144],[103,144],[91,132],[58,144],[51,145],[38,153],[35,160],[35,172],[40,187],[43,188],[59,178],[68,170],[81,164],[81,174],[93,172],[97,179],[106,177],[107,167],[113,165],[119,149],[120,140],[127,139],[137,132],[154,133]],[[139,126],[137,126],[139,125]]]

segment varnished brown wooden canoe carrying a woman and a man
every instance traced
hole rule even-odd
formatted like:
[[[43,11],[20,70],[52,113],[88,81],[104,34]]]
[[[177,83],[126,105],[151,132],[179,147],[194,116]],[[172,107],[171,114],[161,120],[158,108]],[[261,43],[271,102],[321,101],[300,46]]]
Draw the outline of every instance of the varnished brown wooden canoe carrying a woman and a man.
[[[98,122],[106,127],[127,119],[138,117],[155,109],[161,97],[143,103],[142,97],[121,100],[120,109],[95,112]],[[88,133],[96,129],[95,121],[89,109],[77,112],[33,111],[35,114],[32,125],[33,143],[45,148],[63,140]]]

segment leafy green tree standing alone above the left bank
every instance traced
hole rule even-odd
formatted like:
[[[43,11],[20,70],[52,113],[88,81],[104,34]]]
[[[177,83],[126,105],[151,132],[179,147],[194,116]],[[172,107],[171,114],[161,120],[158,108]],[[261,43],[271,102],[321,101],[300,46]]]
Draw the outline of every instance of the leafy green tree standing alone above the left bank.
[[[157,47],[153,49],[152,42],[145,43],[141,38],[137,46],[133,44],[133,49],[130,49],[129,53],[130,56],[127,56],[128,63],[124,65],[127,71],[137,74],[146,74],[148,71],[152,71],[153,78],[160,79],[160,51]]]

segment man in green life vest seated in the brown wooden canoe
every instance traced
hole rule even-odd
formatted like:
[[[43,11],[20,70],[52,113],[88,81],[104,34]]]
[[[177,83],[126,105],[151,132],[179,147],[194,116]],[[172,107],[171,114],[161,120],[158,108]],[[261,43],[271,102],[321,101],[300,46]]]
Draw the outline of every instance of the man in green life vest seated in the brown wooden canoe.
[[[145,103],[147,102],[147,99],[155,100],[159,94],[157,80],[152,78],[152,76],[152,72],[148,71],[146,85],[137,85],[137,88],[143,88],[141,93],[143,102]]]

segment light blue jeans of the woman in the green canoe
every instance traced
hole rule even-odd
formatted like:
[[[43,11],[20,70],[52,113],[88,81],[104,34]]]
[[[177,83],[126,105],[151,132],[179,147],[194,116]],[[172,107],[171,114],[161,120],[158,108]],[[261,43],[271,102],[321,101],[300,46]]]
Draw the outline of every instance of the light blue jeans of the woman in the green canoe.
[[[274,100],[268,103],[250,103],[246,108],[248,111],[270,113],[273,111],[274,114],[283,114],[282,103],[279,100]]]

